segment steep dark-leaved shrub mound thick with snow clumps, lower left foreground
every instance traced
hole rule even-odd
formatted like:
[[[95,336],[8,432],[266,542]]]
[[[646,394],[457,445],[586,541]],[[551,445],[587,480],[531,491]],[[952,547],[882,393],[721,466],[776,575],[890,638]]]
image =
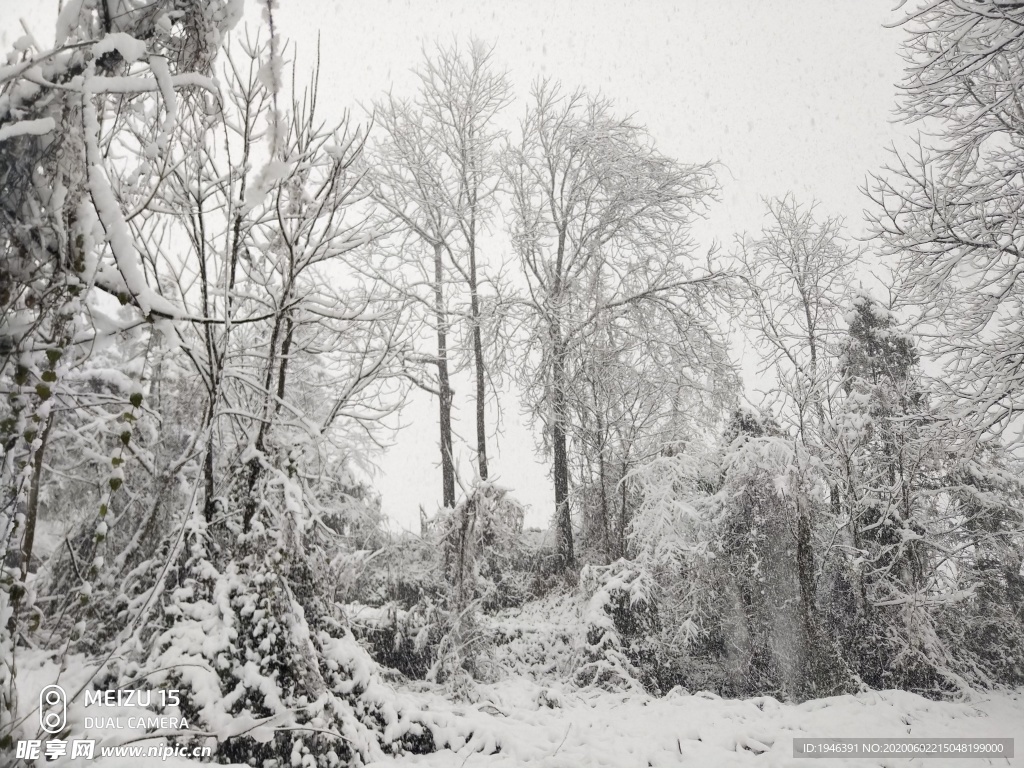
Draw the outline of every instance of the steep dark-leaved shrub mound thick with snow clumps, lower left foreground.
[[[200,515],[186,537],[143,668],[181,691],[193,728],[217,734],[219,762],[339,766],[433,749],[345,627],[315,549],[265,529],[228,548]]]

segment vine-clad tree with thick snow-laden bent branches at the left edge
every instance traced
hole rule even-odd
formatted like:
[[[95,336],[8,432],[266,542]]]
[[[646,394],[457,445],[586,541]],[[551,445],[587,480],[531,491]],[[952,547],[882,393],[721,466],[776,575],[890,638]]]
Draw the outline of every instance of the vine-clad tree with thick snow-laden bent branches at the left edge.
[[[145,282],[128,223],[151,204],[159,174],[136,175],[119,196],[122,161],[110,150],[116,137],[136,131],[147,139],[139,150],[151,161],[166,158],[185,94],[215,90],[207,74],[240,14],[240,3],[219,0],[70,2],[58,14],[51,47],[27,34],[0,71],[0,381],[6,395],[0,406],[0,561],[18,564],[5,569],[0,589],[5,736],[16,690],[10,651],[20,631],[50,438],[69,413],[69,421],[91,421],[93,433],[96,422],[102,424],[106,444],[86,434],[78,445],[98,449],[86,454],[105,465],[95,479],[116,493],[144,399],[142,369],[108,377],[96,391],[102,374],[94,368],[90,379],[83,367],[119,334],[178,314]],[[118,302],[133,311],[119,316],[112,309]],[[88,410],[91,420],[82,418]],[[92,510],[97,537],[108,525],[108,506]]]

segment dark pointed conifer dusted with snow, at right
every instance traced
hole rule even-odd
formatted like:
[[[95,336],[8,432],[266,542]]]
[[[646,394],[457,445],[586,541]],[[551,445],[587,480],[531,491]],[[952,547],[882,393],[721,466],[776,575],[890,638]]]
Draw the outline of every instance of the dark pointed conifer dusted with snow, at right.
[[[955,529],[942,508],[956,437],[929,402],[914,340],[892,312],[858,294],[847,319],[836,421],[850,537],[836,564],[849,586],[835,618],[867,684],[964,689],[968,670],[937,616],[965,596],[949,589],[941,557]]]

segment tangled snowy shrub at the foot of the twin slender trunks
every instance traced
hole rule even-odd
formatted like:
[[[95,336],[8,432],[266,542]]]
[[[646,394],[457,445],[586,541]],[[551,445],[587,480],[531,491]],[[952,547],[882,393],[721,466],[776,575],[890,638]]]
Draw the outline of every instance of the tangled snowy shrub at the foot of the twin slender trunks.
[[[480,614],[521,604],[531,578],[520,568],[522,518],[505,488],[477,482],[455,509],[426,521],[421,536],[336,557],[339,572],[355,575],[347,610],[374,658],[455,688],[488,677],[494,638]]]

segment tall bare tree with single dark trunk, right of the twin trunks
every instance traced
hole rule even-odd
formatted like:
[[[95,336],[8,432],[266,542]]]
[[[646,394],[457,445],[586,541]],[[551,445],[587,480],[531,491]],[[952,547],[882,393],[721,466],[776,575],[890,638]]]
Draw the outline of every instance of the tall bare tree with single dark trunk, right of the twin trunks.
[[[574,561],[568,440],[572,358],[588,332],[631,307],[662,307],[709,333],[719,274],[689,261],[688,226],[714,195],[710,165],[681,165],[611,105],[551,83],[534,89],[505,157],[513,246],[526,284],[522,383],[553,457],[557,549]],[[585,353],[585,352],[584,352]]]

